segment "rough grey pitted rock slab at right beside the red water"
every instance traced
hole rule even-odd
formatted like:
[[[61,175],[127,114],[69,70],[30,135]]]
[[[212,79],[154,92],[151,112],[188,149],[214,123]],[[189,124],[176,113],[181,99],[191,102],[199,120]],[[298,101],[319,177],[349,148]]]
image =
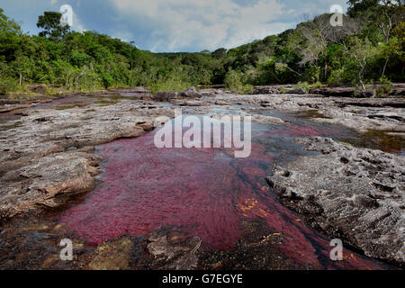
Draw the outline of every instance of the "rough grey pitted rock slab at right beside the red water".
[[[404,264],[405,159],[332,139],[298,139],[315,157],[276,167],[277,198],[331,238],[369,257]]]

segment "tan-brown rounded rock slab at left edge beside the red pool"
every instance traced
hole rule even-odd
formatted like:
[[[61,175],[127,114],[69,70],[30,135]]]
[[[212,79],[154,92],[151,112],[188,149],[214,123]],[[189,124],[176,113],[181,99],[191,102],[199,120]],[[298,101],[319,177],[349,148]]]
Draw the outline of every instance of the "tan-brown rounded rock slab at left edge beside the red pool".
[[[57,207],[68,196],[93,190],[101,157],[84,152],[41,157],[29,166],[6,173],[0,188],[0,216]]]

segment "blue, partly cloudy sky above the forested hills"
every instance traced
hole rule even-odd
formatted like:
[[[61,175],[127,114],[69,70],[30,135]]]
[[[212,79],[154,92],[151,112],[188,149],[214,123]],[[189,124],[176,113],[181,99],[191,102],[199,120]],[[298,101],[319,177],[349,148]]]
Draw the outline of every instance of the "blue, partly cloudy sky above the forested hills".
[[[37,34],[38,16],[73,8],[75,31],[98,31],[135,41],[153,52],[198,52],[235,48],[278,34],[304,15],[329,13],[347,0],[0,0],[4,14]]]

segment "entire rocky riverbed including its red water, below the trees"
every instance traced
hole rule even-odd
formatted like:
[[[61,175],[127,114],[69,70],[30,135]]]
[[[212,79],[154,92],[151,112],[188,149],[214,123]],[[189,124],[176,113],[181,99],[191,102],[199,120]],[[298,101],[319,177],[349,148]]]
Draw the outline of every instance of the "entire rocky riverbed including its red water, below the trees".
[[[320,93],[189,89],[154,97],[127,88],[55,99],[4,97],[0,267],[389,267],[375,259],[403,266],[405,99]],[[173,119],[175,108],[213,119],[251,115],[257,125],[253,156],[235,162],[226,150],[174,155],[149,149],[150,131]],[[129,169],[134,174],[127,175]],[[211,178],[215,174],[222,177]],[[181,187],[193,196],[175,194]],[[137,189],[145,194],[134,197]],[[238,197],[225,193],[228,189]],[[170,206],[156,202],[165,197]],[[185,213],[184,207],[191,210]],[[219,227],[226,237],[215,238]],[[347,245],[344,263],[329,263],[324,236]],[[58,259],[61,238],[75,240],[75,261]],[[293,248],[294,241],[302,247]]]

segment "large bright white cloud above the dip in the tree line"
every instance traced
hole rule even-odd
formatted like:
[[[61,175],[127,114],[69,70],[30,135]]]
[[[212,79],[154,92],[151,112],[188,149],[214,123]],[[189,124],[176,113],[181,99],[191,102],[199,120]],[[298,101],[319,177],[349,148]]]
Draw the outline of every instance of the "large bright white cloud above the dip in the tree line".
[[[110,0],[120,17],[147,25],[152,50],[233,48],[291,28],[281,21],[284,4],[257,0]]]

